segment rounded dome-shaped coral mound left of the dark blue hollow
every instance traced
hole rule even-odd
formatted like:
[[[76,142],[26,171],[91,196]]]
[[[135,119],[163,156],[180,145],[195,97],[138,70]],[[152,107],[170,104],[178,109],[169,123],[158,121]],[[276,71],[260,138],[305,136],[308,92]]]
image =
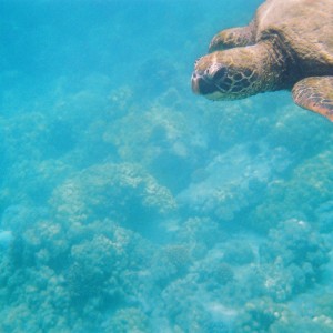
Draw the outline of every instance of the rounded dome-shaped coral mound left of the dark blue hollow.
[[[130,163],[82,170],[54,189],[50,205],[57,219],[69,221],[70,228],[113,218],[140,232],[153,230],[158,225],[151,224],[152,219],[161,219],[176,208],[165,186],[140,165]]]

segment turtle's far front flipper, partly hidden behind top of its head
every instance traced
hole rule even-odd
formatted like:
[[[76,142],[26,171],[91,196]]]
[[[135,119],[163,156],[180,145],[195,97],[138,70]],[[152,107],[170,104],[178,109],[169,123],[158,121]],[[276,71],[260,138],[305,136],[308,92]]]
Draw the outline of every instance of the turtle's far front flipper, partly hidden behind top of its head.
[[[246,27],[239,27],[220,31],[211,40],[209,52],[254,44],[254,22],[251,22]]]

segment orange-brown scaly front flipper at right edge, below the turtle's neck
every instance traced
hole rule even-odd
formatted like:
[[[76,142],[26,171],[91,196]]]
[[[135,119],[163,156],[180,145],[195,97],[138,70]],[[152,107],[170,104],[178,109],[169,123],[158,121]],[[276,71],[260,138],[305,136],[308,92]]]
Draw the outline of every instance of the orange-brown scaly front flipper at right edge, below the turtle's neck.
[[[333,77],[313,77],[297,82],[292,90],[295,103],[333,121]]]

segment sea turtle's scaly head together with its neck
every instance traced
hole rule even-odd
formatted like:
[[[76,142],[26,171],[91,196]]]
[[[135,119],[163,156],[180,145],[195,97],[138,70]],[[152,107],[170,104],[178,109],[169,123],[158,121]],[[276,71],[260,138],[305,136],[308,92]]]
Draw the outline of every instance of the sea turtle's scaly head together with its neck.
[[[192,77],[193,91],[211,100],[236,100],[254,91],[282,89],[284,56],[273,50],[271,41],[265,41],[201,58]]]

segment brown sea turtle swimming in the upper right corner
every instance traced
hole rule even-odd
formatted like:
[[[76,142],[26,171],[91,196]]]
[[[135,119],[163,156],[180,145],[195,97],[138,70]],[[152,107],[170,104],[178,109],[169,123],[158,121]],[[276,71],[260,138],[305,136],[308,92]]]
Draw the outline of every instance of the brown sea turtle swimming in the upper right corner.
[[[219,32],[192,74],[211,100],[282,89],[333,121],[333,0],[265,1],[249,26]]]

